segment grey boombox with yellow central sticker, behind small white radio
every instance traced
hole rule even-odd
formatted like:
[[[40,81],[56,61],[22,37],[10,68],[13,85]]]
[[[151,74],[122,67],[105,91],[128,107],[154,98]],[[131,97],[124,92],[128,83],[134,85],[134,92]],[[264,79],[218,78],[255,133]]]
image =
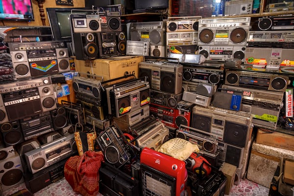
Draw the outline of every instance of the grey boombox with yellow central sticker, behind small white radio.
[[[130,40],[149,42],[153,46],[165,46],[165,26],[164,21],[131,23]]]

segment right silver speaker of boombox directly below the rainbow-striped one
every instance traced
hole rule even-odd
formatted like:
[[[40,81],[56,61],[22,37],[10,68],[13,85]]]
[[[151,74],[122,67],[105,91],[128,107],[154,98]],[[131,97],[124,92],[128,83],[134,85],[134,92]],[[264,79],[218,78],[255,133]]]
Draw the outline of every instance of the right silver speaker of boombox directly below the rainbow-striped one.
[[[38,87],[43,112],[56,108],[53,85]]]

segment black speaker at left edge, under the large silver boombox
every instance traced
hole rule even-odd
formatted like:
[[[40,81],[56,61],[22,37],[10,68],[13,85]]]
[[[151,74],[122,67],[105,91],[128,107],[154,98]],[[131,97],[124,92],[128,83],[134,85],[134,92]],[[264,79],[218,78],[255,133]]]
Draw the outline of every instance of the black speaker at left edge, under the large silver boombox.
[[[4,146],[8,147],[24,142],[23,132],[19,121],[3,123],[0,125]]]

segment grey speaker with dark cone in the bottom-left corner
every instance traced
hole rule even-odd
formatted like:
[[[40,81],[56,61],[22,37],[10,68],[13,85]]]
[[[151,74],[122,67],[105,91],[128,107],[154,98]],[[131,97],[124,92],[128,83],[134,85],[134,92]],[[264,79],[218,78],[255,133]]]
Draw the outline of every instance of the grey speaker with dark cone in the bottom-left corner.
[[[1,188],[3,191],[24,182],[23,166],[17,152],[15,156],[0,161],[0,168]]]

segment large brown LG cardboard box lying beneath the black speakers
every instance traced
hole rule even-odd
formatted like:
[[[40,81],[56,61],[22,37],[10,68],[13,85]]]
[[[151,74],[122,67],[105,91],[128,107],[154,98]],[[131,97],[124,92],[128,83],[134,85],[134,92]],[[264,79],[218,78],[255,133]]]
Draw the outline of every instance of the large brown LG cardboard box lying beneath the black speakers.
[[[106,81],[128,74],[138,77],[139,63],[142,61],[143,56],[118,56],[95,60],[75,59],[74,64],[77,72],[103,76],[103,81]]]

